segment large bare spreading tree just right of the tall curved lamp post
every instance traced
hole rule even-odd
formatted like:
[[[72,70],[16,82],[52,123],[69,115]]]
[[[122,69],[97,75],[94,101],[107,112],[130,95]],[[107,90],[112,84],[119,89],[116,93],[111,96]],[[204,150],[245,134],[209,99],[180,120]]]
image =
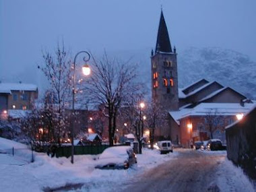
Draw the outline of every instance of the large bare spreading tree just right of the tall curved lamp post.
[[[113,146],[121,104],[138,89],[134,83],[136,67],[131,65],[130,61],[109,59],[106,53],[102,59],[93,58],[93,61],[92,76],[86,82],[86,92],[90,93],[92,102],[104,105],[103,112],[108,118],[109,143]]]

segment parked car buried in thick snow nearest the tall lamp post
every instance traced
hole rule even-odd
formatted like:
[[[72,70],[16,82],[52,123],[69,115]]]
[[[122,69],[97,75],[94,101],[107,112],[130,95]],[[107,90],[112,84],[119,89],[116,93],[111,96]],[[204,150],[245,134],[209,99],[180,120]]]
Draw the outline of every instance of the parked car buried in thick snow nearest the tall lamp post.
[[[130,146],[114,146],[106,148],[97,161],[95,168],[127,169],[137,163],[137,157]]]

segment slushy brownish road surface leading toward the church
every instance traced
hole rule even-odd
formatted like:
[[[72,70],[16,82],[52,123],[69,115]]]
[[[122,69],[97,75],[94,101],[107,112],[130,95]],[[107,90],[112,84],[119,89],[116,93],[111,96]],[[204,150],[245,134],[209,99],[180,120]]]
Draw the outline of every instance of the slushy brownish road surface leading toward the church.
[[[176,159],[160,164],[127,183],[122,191],[214,191],[218,165],[226,154],[205,154],[195,150],[183,151]]]

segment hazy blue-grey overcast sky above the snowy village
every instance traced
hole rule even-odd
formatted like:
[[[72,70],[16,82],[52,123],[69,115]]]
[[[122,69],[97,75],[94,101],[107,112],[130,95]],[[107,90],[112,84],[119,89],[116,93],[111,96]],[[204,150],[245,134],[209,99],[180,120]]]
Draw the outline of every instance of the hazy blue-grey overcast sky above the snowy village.
[[[160,7],[177,51],[220,46],[256,60],[255,0],[0,0],[0,80],[38,83],[42,49],[64,40],[73,55],[155,47]],[[118,55],[117,55],[118,56]],[[150,65],[150,57],[148,57]]]

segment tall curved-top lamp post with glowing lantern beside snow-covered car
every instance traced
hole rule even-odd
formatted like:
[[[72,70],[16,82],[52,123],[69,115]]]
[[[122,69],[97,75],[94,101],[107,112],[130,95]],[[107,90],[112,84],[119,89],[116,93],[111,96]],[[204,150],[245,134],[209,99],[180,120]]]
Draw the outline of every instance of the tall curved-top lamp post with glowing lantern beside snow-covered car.
[[[80,54],[84,54],[86,55],[84,57],[84,61],[87,62],[90,60],[90,54],[87,52],[87,51],[79,51],[76,55],[75,55],[75,59],[74,59],[74,62],[73,62],[73,89],[72,89],[72,96],[73,96],[73,99],[72,99],[72,113],[73,113],[73,122],[72,122],[72,127],[71,127],[71,163],[73,164],[74,162],[74,125],[75,125],[75,61],[76,61],[76,58],[78,55]],[[90,75],[90,67],[89,65],[84,64],[83,67],[82,67],[82,71],[84,73],[84,75]]]

